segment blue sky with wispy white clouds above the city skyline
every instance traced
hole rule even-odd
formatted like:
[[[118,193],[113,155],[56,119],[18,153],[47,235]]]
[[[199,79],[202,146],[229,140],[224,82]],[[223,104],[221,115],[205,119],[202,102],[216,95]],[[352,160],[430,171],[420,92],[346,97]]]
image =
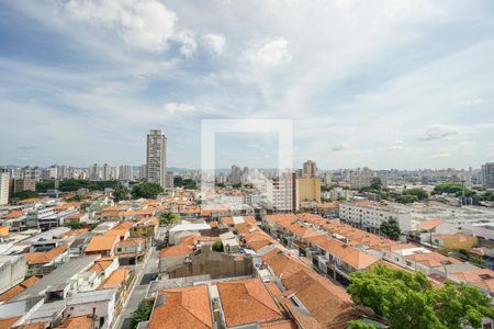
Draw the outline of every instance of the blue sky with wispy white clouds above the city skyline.
[[[200,168],[204,120],[289,120],[293,166],[494,160],[494,2],[0,0],[0,166]],[[271,133],[216,166],[276,167]]]

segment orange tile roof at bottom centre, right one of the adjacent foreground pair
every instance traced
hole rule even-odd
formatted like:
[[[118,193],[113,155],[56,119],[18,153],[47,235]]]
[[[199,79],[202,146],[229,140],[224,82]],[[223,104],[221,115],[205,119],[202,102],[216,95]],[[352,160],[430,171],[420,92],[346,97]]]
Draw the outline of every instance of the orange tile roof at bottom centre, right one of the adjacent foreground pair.
[[[283,319],[258,277],[217,283],[227,327]]]

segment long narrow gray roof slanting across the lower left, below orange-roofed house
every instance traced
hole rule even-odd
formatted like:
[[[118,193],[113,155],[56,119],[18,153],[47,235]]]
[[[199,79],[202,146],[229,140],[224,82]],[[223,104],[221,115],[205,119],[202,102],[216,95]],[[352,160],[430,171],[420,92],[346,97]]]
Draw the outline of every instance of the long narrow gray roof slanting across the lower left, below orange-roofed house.
[[[16,295],[12,300],[36,297],[47,288],[56,286],[63,282],[68,282],[74,275],[88,269],[98,258],[100,258],[100,256],[74,258],[48,275],[43,276],[42,280],[37,281],[35,284]]]

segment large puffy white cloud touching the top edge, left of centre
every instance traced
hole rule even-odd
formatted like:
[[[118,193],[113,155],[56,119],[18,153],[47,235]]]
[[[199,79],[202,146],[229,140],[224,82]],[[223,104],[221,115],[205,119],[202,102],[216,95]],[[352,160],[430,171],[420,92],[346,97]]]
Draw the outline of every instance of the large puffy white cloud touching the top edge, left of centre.
[[[175,34],[177,15],[156,0],[72,0],[66,9],[78,21],[116,29],[128,46],[141,50],[161,52]]]

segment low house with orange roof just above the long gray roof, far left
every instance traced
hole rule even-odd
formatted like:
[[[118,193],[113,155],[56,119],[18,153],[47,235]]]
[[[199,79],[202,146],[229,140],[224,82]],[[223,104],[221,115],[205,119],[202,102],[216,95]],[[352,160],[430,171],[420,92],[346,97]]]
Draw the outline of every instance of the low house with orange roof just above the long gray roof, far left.
[[[35,251],[26,253],[25,260],[27,263],[27,271],[25,275],[43,276],[49,274],[68,259],[68,248],[65,245],[58,246],[49,251]]]

